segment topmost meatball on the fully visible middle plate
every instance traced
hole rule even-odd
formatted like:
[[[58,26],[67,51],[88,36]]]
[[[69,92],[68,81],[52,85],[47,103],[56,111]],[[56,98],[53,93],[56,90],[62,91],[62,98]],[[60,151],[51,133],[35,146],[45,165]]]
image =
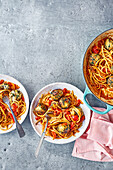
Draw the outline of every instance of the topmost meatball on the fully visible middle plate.
[[[63,91],[62,89],[55,89],[51,92],[51,94],[54,100],[58,100],[63,96]]]

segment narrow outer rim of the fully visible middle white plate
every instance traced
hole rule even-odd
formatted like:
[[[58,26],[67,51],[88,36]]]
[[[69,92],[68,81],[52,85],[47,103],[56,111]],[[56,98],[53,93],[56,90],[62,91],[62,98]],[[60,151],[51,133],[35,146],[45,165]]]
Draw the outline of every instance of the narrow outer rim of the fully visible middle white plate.
[[[82,92],[78,87],[76,87],[76,86],[74,86],[74,85],[72,85],[72,84],[70,84],[70,83],[65,83],[65,82],[50,83],[50,84],[44,86],[43,88],[41,88],[41,89],[34,95],[32,101],[31,101],[30,110],[29,110],[29,117],[30,117],[31,125],[32,125],[34,131],[36,132],[36,134],[37,134],[39,137],[41,137],[41,135],[40,135],[39,132],[36,130],[36,128],[35,128],[35,126],[34,126],[34,124],[33,124],[33,121],[32,121],[32,114],[33,114],[33,113],[32,113],[32,106],[33,106],[33,103],[34,103],[34,101],[35,101],[35,98],[40,94],[41,91],[43,91],[44,89],[46,89],[46,88],[48,88],[48,87],[50,87],[50,86],[55,86],[55,85],[63,85],[64,88],[65,88],[65,85],[71,86],[72,88],[76,88],[76,89],[77,89],[80,93],[82,93],[82,95],[83,95],[83,92]],[[77,97],[78,97],[78,96],[77,96]],[[85,105],[85,103],[84,103],[84,105]],[[86,105],[85,105],[85,106],[86,106]],[[89,122],[90,122],[90,117],[91,117],[90,109],[89,109],[87,106],[86,106],[86,108],[87,108],[87,110],[89,110],[89,114],[88,114],[88,122],[87,122],[86,128],[83,130],[83,133],[84,133],[85,130],[87,129],[87,127],[88,127],[88,125],[89,125]],[[81,135],[83,135],[83,133],[82,133]],[[80,136],[81,136],[81,135],[80,135]],[[80,137],[80,136],[79,136],[79,137]],[[78,138],[79,138],[79,137],[78,137]],[[69,138],[68,138],[68,139],[69,139]],[[64,142],[62,142],[62,143],[60,142],[60,139],[59,139],[59,142],[57,143],[57,142],[54,142],[54,140],[49,140],[49,139],[47,139],[47,137],[44,138],[45,141],[50,142],[50,143],[53,143],[53,144],[67,144],[67,143],[70,143],[70,142],[75,141],[77,138],[75,139],[75,137],[73,136],[73,139],[71,139],[70,141],[68,141],[68,139],[67,139],[67,140],[64,139]]]

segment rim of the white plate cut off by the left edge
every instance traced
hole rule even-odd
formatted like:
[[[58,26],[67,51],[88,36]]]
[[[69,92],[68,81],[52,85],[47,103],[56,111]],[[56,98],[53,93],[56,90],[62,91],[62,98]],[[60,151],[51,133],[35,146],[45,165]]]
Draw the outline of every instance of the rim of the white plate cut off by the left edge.
[[[2,77],[4,77],[3,79],[7,79],[7,78],[9,78],[9,81],[10,81],[10,79],[11,79],[11,82],[13,82],[13,80],[14,81],[16,81],[17,82],[17,84],[20,84],[21,85],[21,87],[24,89],[24,91],[25,91],[25,93],[26,93],[26,105],[27,105],[27,107],[26,107],[26,112],[24,113],[25,114],[25,117],[23,118],[23,120],[21,120],[19,123],[20,124],[22,124],[24,121],[25,121],[25,119],[26,119],[26,117],[27,117],[27,115],[28,115],[28,111],[29,111],[29,96],[28,96],[28,93],[27,93],[27,90],[25,89],[25,87],[23,86],[23,84],[20,82],[20,81],[18,81],[16,78],[14,78],[14,77],[12,77],[12,76],[10,76],[10,75],[6,75],[6,74],[0,74],[0,79],[1,79],[1,76]],[[7,80],[6,80],[7,81]],[[14,83],[14,82],[13,82]],[[15,83],[16,84],[16,83]],[[20,87],[20,88],[21,88]],[[23,94],[24,95],[24,94]],[[24,96],[25,97],[25,96]],[[14,123],[13,124],[13,126],[9,129],[9,130],[7,130],[7,131],[3,131],[3,132],[0,132],[0,135],[3,135],[3,134],[6,134],[6,133],[10,133],[10,132],[12,132],[12,131],[14,131],[16,129],[16,124]]]

